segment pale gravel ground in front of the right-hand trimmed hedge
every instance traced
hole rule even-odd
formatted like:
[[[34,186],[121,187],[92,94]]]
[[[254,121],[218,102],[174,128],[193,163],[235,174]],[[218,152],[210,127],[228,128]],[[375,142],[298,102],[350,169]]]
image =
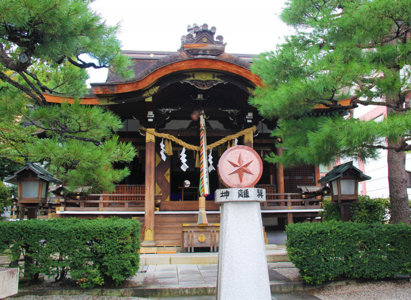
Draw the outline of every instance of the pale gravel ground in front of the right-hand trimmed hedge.
[[[375,281],[329,286],[309,292],[323,300],[410,300],[411,283],[406,280]]]

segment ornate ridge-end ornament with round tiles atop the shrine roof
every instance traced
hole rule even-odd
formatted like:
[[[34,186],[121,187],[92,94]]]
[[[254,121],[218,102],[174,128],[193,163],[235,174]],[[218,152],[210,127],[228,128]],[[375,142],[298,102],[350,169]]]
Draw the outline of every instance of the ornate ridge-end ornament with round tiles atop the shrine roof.
[[[224,43],[222,35],[214,39],[217,28],[204,23],[201,26],[193,24],[187,26],[188,34],[181,36],[179,51],[189,51],[193,55],[218,55],[225,51],[227,43]]]

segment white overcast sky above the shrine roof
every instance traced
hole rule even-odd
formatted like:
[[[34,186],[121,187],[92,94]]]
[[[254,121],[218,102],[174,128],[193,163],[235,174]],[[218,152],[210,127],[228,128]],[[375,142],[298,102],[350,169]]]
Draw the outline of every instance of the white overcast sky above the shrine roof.
[[[258,54],[274,50],[289,35],[278,15],[286,0],[176,1],[96,0],[92,8],[107,24],[121,23],[123,50],[177,51],[187,25],[215,26],[227,53]],[[104,82],[107,70],[90,70],[88,82]]]

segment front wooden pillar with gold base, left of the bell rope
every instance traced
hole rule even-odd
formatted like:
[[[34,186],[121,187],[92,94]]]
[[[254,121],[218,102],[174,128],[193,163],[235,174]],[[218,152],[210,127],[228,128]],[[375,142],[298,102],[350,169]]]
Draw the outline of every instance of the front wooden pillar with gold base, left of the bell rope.
[[[154,240],[154,194],[155,194],[155,167],[156,167],[156,137],[145,133],[145,199],[144,199],[144,241],[142,247],[155,247]]]

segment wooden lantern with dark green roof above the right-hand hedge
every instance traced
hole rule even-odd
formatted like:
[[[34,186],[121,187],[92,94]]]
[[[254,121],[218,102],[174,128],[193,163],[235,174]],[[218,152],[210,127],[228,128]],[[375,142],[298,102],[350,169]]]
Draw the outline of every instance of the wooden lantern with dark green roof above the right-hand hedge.
[[[331,186],[331,202],[341,205],[341,220],[349,221],[351,203],[358,202],[358,183],[371,179],[352,165],[352,161],[335,166],[319,183],[329,182]]]

